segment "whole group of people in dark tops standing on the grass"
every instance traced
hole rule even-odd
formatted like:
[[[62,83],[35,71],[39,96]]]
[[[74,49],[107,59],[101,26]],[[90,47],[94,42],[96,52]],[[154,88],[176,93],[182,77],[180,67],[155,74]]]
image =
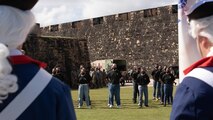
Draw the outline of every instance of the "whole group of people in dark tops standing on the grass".
[[[60,67],[55,67],[52,71],[53,76],[61,77]],[[150,83],[150,77],[144,67],[134,66],[132,70],[128,72],[133,84],[133,103],[137,103],[138,106],[148,107],[148,84]],[[161,104],[172,104],[173,102],[173,84],[175,83],[174,71],[171,67],[155,65],[154,70],[151,72],[153,78],[153,100],[160,100]],[[63,76],[62,76],[63,77]],[[63,78],[60,78],[63,80]],[[91,108],[91,101],[89,96],[90,88],[99,88],[108,86],[108,107],[114,106],[114,98],[117,104],[117,108],[121,108],[120,99],[120,81],[122,79],[121,71],[117,69],[116,64],[112,64],[111,70],[107,73],[100,69],[92,69],[91,71],[81,65],[80,73],[78,75],[78,108],[81,108],[83,101],[86,102],[88,108]],[[144,100],[143,100],[144,96]],[[138,98],[137,98],[138,97]]]

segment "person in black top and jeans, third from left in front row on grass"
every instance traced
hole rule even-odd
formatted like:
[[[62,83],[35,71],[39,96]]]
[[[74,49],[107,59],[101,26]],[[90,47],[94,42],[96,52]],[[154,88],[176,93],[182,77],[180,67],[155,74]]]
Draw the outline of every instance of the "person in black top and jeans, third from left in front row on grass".
[[[140,73],[136,79],[138,84],[138,91],[139,91],[139,106],[142,107],[143,101],[143,94],[144,94],[144,106],[148,107],[148,87],[147,85],[150,82],[149,76],[146,74],[145,69],[141,68]]]

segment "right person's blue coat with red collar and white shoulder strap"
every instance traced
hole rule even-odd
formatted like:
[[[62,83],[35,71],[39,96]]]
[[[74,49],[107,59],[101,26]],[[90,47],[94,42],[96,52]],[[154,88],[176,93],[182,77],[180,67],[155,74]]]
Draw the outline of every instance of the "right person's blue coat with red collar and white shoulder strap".
[[[198,61],[185,73],[190,74],[194,70],[196,74],[186,76],[177,88],[170,120],[213,120],[213,57]],[[210,78],[210,83],[197,75]]]

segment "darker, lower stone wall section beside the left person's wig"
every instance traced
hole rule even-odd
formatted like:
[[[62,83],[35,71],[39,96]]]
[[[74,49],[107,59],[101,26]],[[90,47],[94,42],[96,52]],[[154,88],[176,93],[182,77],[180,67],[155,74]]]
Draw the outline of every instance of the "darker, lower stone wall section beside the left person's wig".
[[[80,64],[90,67],[87,40],[35,35],[29,35],[24,44],[26,54],[47,63],[46,70],[49,73],[55,65],[61,66],[65,82],[72,88],[77,88]]]

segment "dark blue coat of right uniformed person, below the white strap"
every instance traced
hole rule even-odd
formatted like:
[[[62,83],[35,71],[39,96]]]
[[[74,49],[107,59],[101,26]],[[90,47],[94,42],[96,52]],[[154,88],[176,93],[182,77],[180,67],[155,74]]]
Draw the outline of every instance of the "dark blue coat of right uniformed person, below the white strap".
[[[204,69],[213,72],[213,67]],[[170,120],[213,120],[212,102],[213,88],[210,85],[186,77],[177,88]]]

